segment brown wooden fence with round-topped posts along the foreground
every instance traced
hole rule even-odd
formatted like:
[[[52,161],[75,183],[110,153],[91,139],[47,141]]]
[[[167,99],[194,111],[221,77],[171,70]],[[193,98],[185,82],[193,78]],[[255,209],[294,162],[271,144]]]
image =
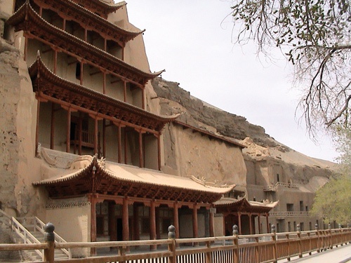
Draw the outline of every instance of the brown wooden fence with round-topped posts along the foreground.
[[[233,227],[232,236],[210,238],[175,238],[173,226],[168,228],[168,239],[154,241],[112,241],[112,242],[54,242],[54,227],[46,224],[44,244],[0,244],[0,250],[44,249],[43,262],[53,263],[54,250],[58,248],[106,248],[115,247],[118,252],[111,255],[76,259],[63,259],[57,262],[131,262],[131,263],[239,263],[239,262],[277,262],[278,259],[303,257],[314,251],[322,252],[333,246],[351,243],[351,228],[326,229],[314,231],[295,231],[258,235],[238,235],[237,226]],[[165,246],[145,252],[141,246]],[[135,252],[131,248],[135,248]],[[139,250],[138,250],[139,248]]]

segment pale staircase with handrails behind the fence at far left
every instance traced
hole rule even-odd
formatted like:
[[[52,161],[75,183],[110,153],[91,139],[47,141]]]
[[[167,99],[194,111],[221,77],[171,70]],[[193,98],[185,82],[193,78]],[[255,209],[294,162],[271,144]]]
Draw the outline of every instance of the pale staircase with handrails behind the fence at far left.
[[[15,219],[0,210],[0,225],[10,229],[14,243],[44,243],[44,222],[38,217],[22,217]],[[56,243],[66,241],[55,233]],[[24,250],[21,255],[24,259],[32,262],[42,262],[44,260],[43,250]],[[66,249],[55,250],[55,259],[70,259],[71,252]]]

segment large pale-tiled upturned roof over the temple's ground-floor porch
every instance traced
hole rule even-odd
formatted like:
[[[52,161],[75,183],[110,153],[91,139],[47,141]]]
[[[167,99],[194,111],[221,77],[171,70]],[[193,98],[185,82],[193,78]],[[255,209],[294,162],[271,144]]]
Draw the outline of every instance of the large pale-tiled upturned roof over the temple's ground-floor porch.
[[[44,151],[44,153],[43,153]],[[41,156],[53,166],[49,149]],[[213,203],[234,185],[213,186],[194,177],[168,175],[157,170],[112,163],[95,156],[77,156],[66,168],[55,168],[55,176],[34,182],[44,185],[52,198],[100,193],[168,201]]]

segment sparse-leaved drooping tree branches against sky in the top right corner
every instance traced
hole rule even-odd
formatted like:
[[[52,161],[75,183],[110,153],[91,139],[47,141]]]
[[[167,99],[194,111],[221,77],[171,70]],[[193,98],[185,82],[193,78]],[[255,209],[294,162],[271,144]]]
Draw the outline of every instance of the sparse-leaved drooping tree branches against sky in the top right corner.
[[[312,135],[343,119],[351,99],[349,0],[233,0],[232,15],[237,43],[253,40],[265,55],[277,46],[294,65]]]

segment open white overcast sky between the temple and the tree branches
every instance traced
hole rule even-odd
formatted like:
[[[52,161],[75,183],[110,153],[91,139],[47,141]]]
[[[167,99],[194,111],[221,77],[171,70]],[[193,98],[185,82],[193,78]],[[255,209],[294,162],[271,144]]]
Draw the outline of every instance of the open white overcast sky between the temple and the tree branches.
[[[231,1],[126,0],[129,21],[144,33],[152,72],[220,109],[244,116],[275,140],[307,156],[333,161],[331,140],[308,137],[293,90],[290,65],[258,58],[253,45],[234,45]]]

